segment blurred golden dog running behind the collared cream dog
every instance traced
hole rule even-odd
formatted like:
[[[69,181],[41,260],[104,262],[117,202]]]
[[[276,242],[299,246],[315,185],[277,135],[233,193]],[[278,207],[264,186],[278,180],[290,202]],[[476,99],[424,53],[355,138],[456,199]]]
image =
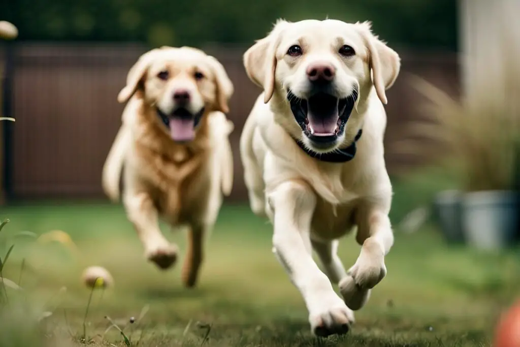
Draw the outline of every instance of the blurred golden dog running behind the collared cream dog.
[[[196,284],[204,236],[229,195],[233,162],[226,119],[233,85],[224,67],[201,50],[162,47],[130,69],[118,100],[128,101],[102,174],[106,194],[120,197],[148,260],[160,268],[177,258],[159,217],[188,225],[183,281]]]

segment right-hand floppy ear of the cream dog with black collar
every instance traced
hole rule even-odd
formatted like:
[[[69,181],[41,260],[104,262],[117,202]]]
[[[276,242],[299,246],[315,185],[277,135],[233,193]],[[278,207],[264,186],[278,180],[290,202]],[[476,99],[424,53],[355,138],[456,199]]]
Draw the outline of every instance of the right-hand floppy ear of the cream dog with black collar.
[[[379,99],[386,105],[385,90],[390,88],[401,68],[401,59],[397,52],[388,47],[378,36],[372,34],[371,23],[357,23],[361,28],[361,33],[365,37],[366,45],[369,52],[369,64],[372,70],[372,83]]]

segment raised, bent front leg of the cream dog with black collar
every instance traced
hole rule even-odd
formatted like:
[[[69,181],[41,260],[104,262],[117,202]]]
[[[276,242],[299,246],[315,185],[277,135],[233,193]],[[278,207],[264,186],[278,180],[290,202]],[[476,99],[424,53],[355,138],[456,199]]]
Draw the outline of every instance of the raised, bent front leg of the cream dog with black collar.
[[[387,213],[372,204],[364,204],[356,213],[357,242],[362,245],[359,257],[340,281],[340,291],[348,307],[359,310],[371,289],[386,276],[385,255],[394,243]]]

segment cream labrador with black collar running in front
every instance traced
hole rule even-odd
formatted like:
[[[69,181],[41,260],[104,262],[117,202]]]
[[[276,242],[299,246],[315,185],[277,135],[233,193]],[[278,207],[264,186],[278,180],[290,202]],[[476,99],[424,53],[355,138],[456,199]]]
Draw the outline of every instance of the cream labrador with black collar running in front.
[[[352,310],[386,275],[394,240],[383,104],[399,56],[368,22],[280,20],[243,59],[264,89],[240,143],[251,208],[274,224],[273,251],[303,296],[311,330],[345,333]],[[345,271],[337,239],[354,227],[361,252]]]

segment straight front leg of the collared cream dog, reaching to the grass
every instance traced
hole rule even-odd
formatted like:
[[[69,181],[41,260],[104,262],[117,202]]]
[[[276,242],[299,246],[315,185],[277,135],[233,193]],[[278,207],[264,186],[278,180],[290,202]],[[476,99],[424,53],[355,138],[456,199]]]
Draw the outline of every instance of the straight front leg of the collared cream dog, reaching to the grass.
[[[316,207],[314,192],[303,182],[285,182],[272,190],[267,199],[274,224],[275,254],[303,296],[313,333],[346,333],[354,315],[311,255],[309,232]]]

